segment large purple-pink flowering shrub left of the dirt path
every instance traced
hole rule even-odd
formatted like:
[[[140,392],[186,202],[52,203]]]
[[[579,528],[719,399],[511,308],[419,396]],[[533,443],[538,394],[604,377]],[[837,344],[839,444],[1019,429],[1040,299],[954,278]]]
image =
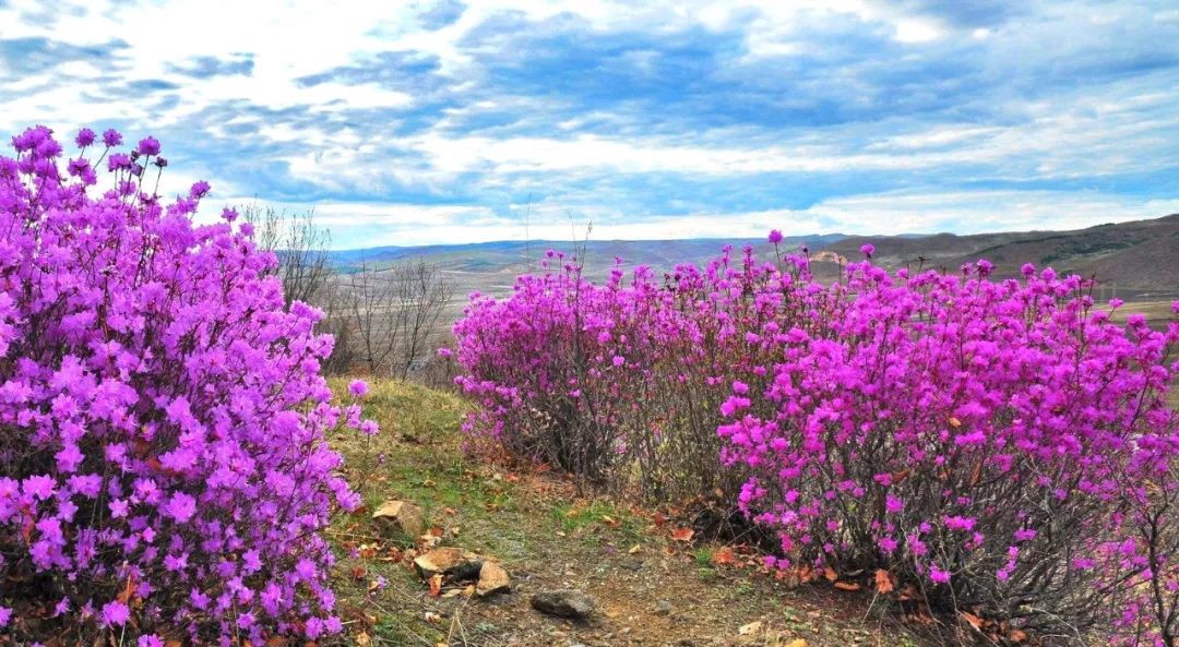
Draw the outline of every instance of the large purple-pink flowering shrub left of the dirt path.
[[[338,632],[320,530],[357,497],[324,436],[362,423],[320,377],[320,312],[284,310],[236,213],[193,224],[208,184],[146,191],[158,141],[77,143],[62,167],[39,126],[0,157],[0,633]]]

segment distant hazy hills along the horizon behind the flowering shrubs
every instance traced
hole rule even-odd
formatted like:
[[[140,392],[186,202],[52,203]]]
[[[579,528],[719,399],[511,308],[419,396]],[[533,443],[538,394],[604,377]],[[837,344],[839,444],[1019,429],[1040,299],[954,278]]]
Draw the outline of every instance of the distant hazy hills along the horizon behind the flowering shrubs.
[[[1098,225],[1074,231],[1023,231],[956,236],[953,233],[903,236],[803,236],[786,238],[782,249],[795,251],[802,244],[812,252],[834,252],[845,258],[859,258],[865,243],[876,246],[874,259],[889,268],[956,269],[963,263],[987,258],[995,263],[1000,276],[1017,276],[1023,263],[1052,266],[1060,273],[1095,276],[1126,297],[1164,297],[1179,295],[1179,213],[1151,220]],[[648,265],[659,271],[677,264],[703,265],[714,258],[724,245],[740,249],[753,244],[758,255],[769,258],[772,246],[764,238],[687,239],[687,240],[590,240],[582,260],[590,278],[604,278],[614,263],[626,266]],[[548,249],[569,252],[580,247],[571,242],[532,240],[475,243],[467,245],[427,245],[414,247],[373,247],[332,252],[341,272],[351,272],[362,264],[382,268],[393,263],[421,258],[440,265],[452,279],[457,295],[472,291],[505,293],[519,273],[535,271]],[[824,257],[830,253],[823,255]],[[924,260],[922,260],[924,259]],[[817,262],[816,275],[831,279],[838,264]]]

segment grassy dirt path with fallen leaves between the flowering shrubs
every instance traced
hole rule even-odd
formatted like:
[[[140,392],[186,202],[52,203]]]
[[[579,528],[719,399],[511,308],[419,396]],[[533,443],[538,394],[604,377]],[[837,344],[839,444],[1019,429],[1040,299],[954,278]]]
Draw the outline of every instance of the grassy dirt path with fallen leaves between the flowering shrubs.
[[[335,385],[342,390],[344,383]],[[868,594],[825,581],[786,587],[759,566],[743,566],[758,560],[740,547],[672,540],[676,528],[691,522],[673,510],[577,497],[554,475],[470,462],[460,447],[467,404],[459,397],[382,381],[364,407],[381,423],[381,435],[370,442],[345,435],[335,445],[365,506],[330,532],[344,555],[334,583],[348,632],[353,640],[363,634],[362,645],[769,647],[802,645],[793,642],[801,639],[817,647],[897,647],[930,640],[922,639],[927,627],[898,623],[883,603],[872,607]],[[443,546],[502,563],[512,592],[432,596],[408,566],[410,544],[381,537],[368,519],[391,499],[420,504]],[[353,549],[375,553],[349,557]],[[727,563],[730,556],[738,563]],[[388,586],[370,594],[377,577]],[[551,588],[594,595],[598,613],[573,622],[531,609],[529,595]]]

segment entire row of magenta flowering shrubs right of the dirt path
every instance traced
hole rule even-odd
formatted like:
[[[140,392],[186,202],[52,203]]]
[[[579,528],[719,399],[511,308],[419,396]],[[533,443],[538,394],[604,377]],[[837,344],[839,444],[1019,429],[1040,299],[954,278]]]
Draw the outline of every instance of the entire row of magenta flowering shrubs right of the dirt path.
[[[600,285],[554,257],[455,325],[468,429],[656,495],[736,477],[783,569],[887,569],[1012,632],[1173,635],[1179,323],[1115,324],[1050,269],[861,252],[831,285],[806,256]]]

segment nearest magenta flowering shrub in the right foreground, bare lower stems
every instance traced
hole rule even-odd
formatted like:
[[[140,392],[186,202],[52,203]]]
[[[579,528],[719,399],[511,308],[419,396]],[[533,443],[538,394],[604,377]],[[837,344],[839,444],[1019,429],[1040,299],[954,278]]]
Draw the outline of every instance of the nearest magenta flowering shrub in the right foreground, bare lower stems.
[[[1179,326],[1115,325],[1086,282],[1030,265],[1022,282],[984,260],[848,272],[822,328],[762,336],[771,381],[738,383],[718,430],[782,565],[885,568],[1021,631],[1173,632],[1179,546],[1158,517],[1174,513]],[[1170,535],[1144,536],[1148,517]],[[1137,600],[1152,583],[1153,618]]]

